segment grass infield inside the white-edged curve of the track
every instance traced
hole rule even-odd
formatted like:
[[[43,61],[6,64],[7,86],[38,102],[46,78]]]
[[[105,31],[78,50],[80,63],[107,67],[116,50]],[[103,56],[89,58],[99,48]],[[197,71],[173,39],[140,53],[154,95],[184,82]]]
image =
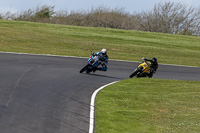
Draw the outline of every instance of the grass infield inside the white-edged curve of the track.
[[[96,133],[198,133],[200,82],[133,78],[95,102]]]

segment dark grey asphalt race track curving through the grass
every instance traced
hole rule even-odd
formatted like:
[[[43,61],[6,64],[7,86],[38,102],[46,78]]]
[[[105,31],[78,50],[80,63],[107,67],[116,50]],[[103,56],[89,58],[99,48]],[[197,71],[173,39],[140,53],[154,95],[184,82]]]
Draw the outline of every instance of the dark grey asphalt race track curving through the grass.
[[[80,74],[86,58],[0,53],[0,133],[88,133],[90,98],[138,63],[109,61]],[[200,68],[159,65],[154,78],[200,81]]]

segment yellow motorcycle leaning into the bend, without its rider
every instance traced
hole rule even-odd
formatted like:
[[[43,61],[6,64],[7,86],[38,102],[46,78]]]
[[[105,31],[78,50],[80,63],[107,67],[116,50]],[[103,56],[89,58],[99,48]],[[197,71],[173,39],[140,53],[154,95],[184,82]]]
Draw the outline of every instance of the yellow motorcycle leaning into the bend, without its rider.
[[[130,78],[132,77],[145,77],[147,73],[150,73],[150,66],[151,63],[148,63],[146,61],[142,62],[130,75]]]

